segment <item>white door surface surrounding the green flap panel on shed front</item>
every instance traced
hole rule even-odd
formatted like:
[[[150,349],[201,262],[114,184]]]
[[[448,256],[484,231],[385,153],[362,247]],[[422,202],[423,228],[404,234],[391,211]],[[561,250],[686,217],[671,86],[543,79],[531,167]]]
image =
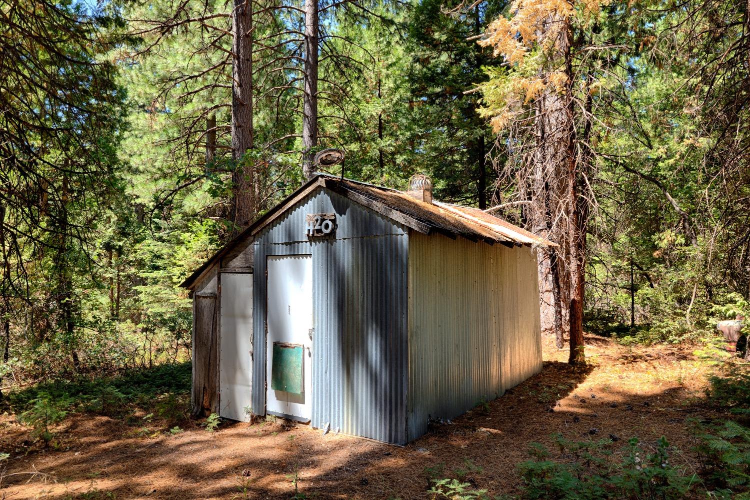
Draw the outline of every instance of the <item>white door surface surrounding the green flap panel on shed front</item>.
[[[313,260],[311,255],[274,255],[266,265],[266,412],[307,422],[312,414]],[[274,342],[302,346],[302,393],[272,388]]]

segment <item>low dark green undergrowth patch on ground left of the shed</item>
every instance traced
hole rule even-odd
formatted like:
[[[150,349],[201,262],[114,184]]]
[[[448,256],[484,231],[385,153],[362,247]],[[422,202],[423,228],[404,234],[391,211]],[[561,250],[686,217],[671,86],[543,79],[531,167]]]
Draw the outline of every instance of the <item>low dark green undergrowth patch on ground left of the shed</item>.
[[[116,377],[80,376],[55,380],[7,394],[10,411],[32,427],[31,435],[49,442],[50,426],[73,412],[122,419],[125,423],[151,423],[154,417],[172,426],[187,417],[190,403],[190,363],[133,370]],[[137,417],[138,412],[146,413]]]

